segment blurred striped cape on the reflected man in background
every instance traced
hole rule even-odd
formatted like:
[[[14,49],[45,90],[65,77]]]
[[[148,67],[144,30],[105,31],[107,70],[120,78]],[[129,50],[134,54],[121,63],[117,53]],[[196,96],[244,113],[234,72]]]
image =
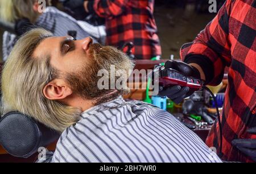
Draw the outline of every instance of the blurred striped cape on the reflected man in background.
[[[45,28],[55,36],[67,36],[68,31],[75,30],[77,31],[76,39],[91,36],[96,43],[98,40],[104,40],[106,36],[105,26],[94,27],[87,22],[78,21],[55,7],[47,7],[46,11],[36,19],[35,26]],[[17,40],[16,35],[4,32],[2,48],[4,61],[7,60]]]

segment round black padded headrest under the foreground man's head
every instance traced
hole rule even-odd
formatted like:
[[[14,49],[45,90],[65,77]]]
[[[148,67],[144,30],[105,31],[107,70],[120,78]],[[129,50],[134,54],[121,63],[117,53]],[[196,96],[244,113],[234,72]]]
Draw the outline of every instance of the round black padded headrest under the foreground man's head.
[[[28,158],[38,152],[39,147],[48,146],[60,134],[31,117],[13,111],[0,119],[0,144],[13,156]]]

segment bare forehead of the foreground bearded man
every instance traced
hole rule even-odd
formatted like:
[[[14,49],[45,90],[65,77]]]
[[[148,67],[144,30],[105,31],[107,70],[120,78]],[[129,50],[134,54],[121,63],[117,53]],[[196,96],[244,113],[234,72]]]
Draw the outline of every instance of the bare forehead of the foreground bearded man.
[[[57,53],[61,40],[65,37],[50,37],[43,39],[36,47],[33,57],[41,57],[43,55],[53,55]]]

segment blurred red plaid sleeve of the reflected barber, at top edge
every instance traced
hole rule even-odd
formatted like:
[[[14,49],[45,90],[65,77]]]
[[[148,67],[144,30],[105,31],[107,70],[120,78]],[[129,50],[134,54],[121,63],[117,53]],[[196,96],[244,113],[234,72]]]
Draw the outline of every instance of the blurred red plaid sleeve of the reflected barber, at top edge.
[[[129,0],[94,0],[89,1],[89,11],[95,11],[102,18],[111,18],[122,14]]]

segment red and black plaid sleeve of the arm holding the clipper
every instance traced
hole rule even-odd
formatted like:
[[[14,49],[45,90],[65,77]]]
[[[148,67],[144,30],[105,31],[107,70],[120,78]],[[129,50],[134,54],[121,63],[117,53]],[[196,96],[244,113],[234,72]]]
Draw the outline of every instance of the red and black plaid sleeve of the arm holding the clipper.
[[[180,56],[185,63],[200,65],[205,73],[205,83],[220,84],[224,69],[231,63],[229,44],[229,18],[232,0],[227,0],[207,27],[192,43],[181,47]],[[235,27],[235,26],[233,26]]]

